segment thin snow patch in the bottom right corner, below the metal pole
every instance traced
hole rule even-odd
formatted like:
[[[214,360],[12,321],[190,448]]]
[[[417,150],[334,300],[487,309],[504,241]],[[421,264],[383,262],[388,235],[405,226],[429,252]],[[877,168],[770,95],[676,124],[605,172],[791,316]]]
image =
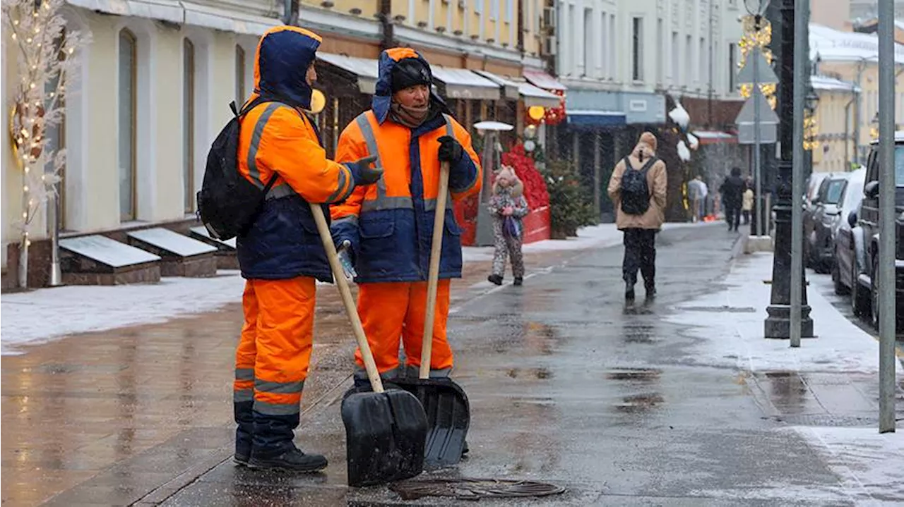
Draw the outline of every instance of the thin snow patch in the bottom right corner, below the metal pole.
[[[904,503],[904,435],[880,434],[876,428],[793,426],[781,431],[804,438],[857,505]]]

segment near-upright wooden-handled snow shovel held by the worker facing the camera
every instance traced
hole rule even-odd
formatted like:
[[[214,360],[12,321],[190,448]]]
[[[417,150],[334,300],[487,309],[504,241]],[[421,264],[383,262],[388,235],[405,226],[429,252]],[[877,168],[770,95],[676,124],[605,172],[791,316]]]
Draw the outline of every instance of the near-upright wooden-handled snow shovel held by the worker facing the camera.
[[[439,169],[439,193],[433,221],[433,240],[430,245],[430,266],[427,280],[427,311],[424,316],[424,337],[420,352],[419,378],[395,381],[405,391],[413,393],[427,412],[428,434],[424,463],[428,468],[453,466],[461,460],[465,448],[467,428],[471,423],[471,409],[465,391],[451,379],[431,379],[430,357],[433,354],[433,319],[437,309],[439,257],[446,226],[449,166],[442,162]]]

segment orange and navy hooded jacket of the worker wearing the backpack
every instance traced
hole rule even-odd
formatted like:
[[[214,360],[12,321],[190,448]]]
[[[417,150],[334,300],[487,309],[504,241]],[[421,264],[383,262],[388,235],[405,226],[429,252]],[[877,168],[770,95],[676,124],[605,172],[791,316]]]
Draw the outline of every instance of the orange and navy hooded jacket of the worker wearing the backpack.
[[[357,167],[326,158],[315,124],[301,111],[310,108],[305,74],[320,37],[294,26],[280,26],[261,38],[254,63],[255,106],[241,119],[239,171],[269,190],[247,235],[237,240],[241,274],[249,279],[281,280],[311,276],[333,281],[308,203],[328,205],[351,195]]]

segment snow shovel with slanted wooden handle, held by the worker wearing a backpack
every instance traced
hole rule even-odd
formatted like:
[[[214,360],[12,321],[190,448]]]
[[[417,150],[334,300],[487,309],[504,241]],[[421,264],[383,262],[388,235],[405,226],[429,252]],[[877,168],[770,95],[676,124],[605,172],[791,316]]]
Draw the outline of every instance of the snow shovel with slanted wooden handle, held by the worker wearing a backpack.
[[[367,336],[364,336],[364,327],[339,263],[324,210],[312,204],[311,212],[345,312],[352,321],[354,337],[361,348],[373,389],[373,392],[356,392],[342,401],[348,484],[366,486],[414,477],[424,469],[424,442],[428,429],[424,408],[410,392],[383,391],[380,373],[373,362]]]

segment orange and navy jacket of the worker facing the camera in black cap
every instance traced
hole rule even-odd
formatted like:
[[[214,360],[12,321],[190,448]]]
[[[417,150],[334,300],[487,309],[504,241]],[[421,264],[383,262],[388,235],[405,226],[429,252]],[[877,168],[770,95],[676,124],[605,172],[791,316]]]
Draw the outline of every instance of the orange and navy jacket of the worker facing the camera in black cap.
[[[391,50],[392,51],[392,50]],[[405,51],[410,52],[410,55]],[[471,137],[450,115],[434,115],[417,128],[398,124],[388,116],[389,77],[400,58],[419,56],[404,48],[380,60],[377,94],[370,111],[359,115],[339,137],[337,161],[356,161],[379,155],[383,178],[370,187],[354,189],[344,203],[331,209],[334,238],[353,244],[359,283],[427,280],[433,219],[439,188],[438,139],[454,136],[464,147],[450,164],[449,191],[439,277],[460,278],[461,229],[451,211],[455,199],[480,191],[481,168]],[[404,55],[404,56],[402,56]],[[393,58],[396,57],[396,58]],[[380,95],[381,92],[384,95]],[[441,99],[437,106],[445,109]]]

